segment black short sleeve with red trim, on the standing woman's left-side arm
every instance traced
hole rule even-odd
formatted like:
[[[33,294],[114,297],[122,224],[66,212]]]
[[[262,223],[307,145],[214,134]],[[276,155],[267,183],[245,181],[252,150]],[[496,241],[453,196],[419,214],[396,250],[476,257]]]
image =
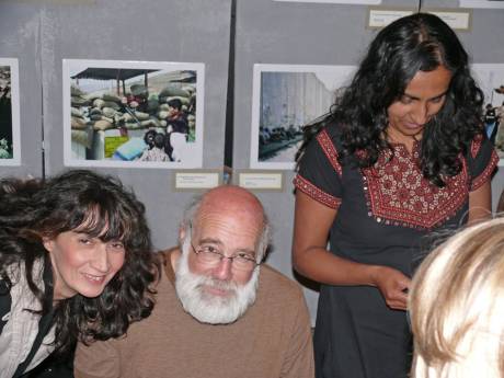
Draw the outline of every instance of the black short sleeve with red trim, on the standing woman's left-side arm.
[[[307,146],[294,179],[296,190],[331,208],[341,204],[342,167],[329,133],[323,129]]]

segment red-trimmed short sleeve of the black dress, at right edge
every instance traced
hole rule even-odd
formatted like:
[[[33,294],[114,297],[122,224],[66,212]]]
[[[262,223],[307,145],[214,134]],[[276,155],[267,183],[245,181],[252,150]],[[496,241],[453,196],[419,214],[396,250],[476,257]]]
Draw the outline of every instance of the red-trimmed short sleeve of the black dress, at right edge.
[[[468,169],[471,183],[470,191],[473,192],[492,177],[492,173],[499,163],[499,156],[492,142],[485,137],[477,136],[468,153]]]

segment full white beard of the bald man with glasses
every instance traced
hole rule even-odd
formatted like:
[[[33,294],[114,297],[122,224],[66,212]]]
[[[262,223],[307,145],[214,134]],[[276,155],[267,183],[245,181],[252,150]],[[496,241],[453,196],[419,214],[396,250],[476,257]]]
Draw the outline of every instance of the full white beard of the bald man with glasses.
[[[202,323],[228,324],[234,322],[255,301],[260,270],[254,270],[245,285],[191,273],[187,262],[191,253],[190,243],[190,238],[185,238],[175,266],[175,290],[184,310]],[[205,287],[221,289],[228,295],[216,296],[205,291]]]

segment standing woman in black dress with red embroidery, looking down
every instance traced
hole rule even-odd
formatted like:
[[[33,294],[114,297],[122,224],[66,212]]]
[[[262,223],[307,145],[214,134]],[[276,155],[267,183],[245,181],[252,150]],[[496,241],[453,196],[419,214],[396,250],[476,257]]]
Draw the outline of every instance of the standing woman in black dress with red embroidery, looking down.
[[[412,265],[434,231],[490,214],[499,159],[482,104],[456,34],[419,13],[378,33],[331,114],[306,134],[293,260],[322,284],[317,377],[406,377]]]

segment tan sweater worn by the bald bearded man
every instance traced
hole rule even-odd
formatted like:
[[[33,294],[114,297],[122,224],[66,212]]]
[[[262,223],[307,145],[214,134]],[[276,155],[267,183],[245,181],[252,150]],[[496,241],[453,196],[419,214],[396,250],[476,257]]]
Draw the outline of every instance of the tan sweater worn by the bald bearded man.
[[[311,378],[313,352],[300,287],[261,266],[255,303],[232,324],[199,323],[174,289],[170,256],[152,314],[126,336],[80,344],[76,378]]]

